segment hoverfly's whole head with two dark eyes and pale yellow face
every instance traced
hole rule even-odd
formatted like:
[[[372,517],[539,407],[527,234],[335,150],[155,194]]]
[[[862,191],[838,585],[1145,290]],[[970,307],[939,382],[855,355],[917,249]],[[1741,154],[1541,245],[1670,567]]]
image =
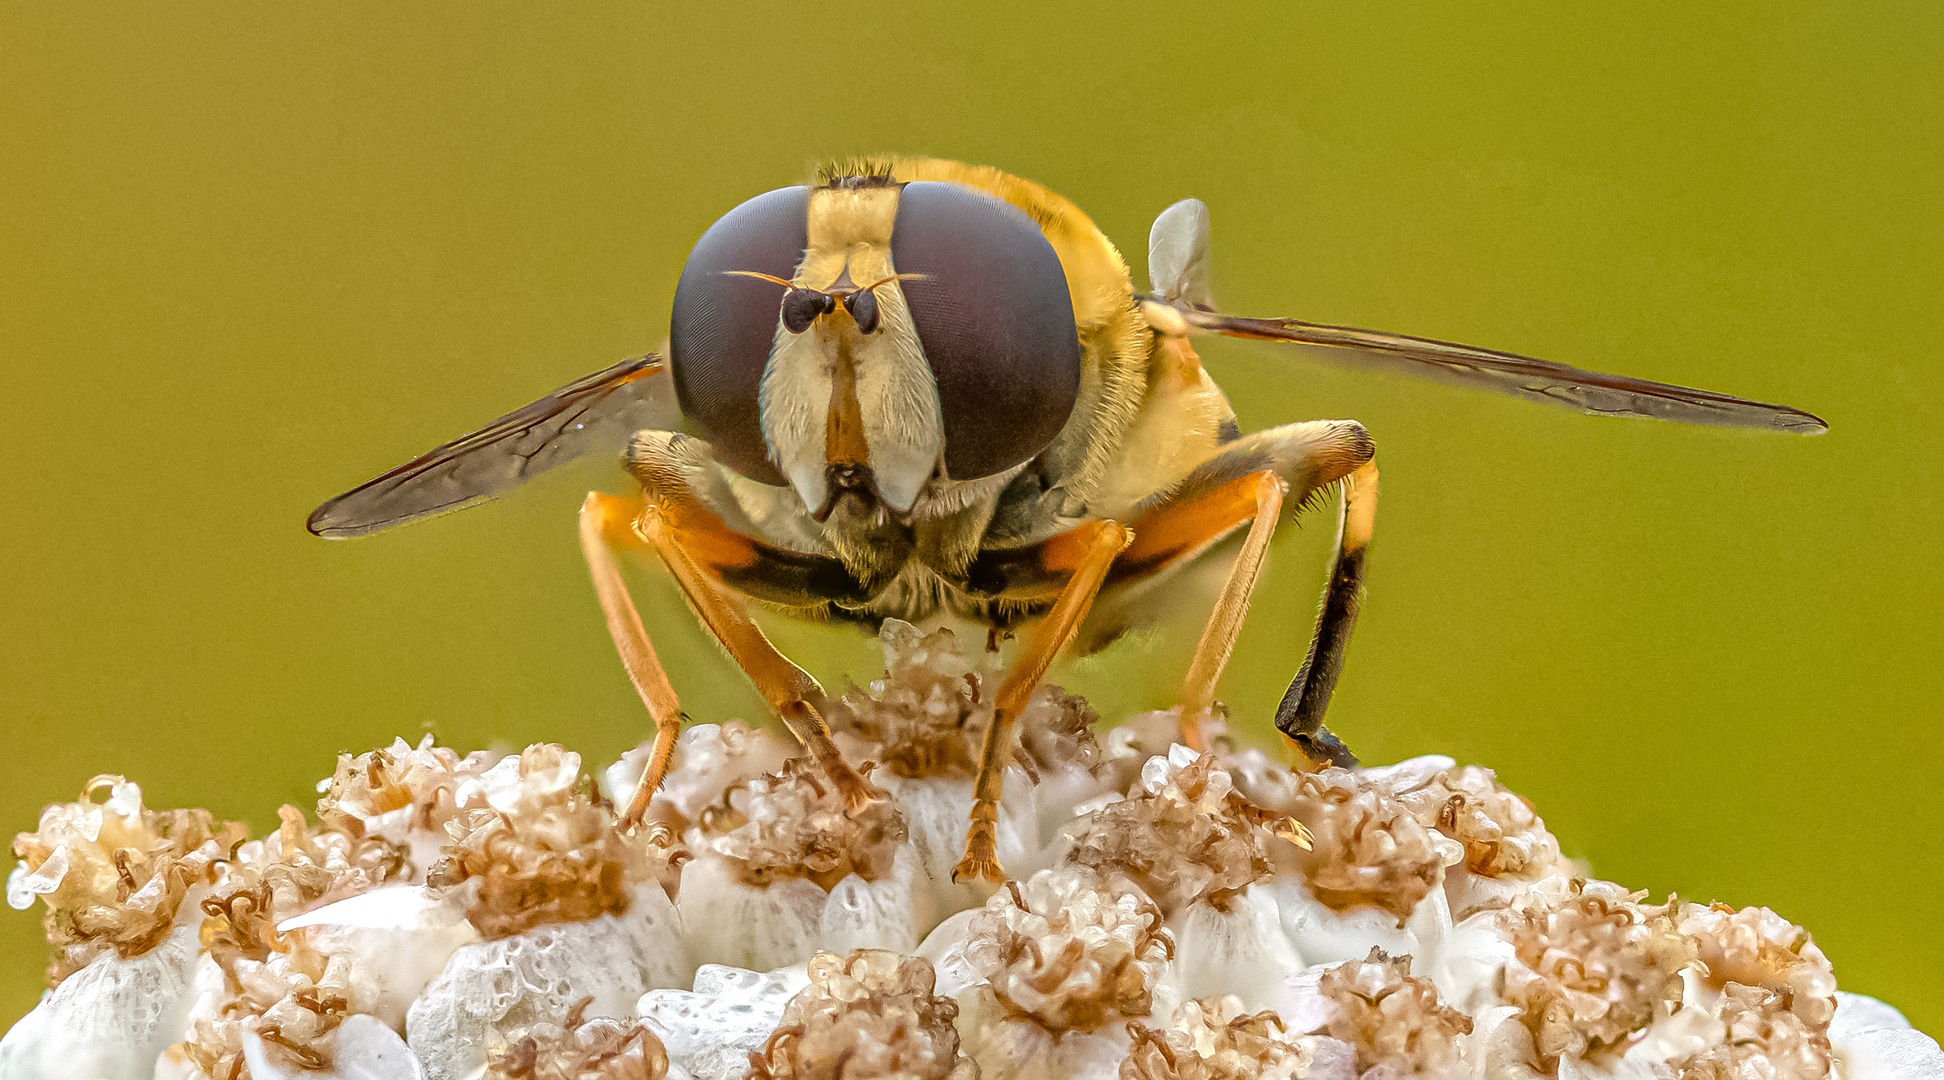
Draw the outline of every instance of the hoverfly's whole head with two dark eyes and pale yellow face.
[[[682,268],[669,336],[715,458],[824,521],[927,517],[941,486],[1054,441],[1081,385],[1040,227],[968,186],[848,177],[737,206]]]

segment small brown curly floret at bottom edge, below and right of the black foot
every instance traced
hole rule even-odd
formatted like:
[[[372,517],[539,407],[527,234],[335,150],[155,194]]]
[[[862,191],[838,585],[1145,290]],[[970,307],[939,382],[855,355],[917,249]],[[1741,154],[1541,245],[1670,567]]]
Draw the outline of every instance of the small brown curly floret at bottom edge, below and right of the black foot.
[[[1411,958],[1372,948],[1365,960],[1322,973],[1316,991],[1330,1000],[1324,1031],[1357,1051],[1357,1070],[1390,1063],[1402,1076],[1448,1068],[1458,1061],[1458,1035],[1472,1018],[1439,1004],[1431,979],[1411,975]]]

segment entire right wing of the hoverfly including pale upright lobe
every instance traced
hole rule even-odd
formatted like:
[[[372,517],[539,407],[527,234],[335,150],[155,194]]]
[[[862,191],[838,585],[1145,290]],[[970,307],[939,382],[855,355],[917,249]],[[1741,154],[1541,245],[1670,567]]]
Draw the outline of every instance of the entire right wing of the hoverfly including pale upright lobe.
[[[1213,309],[1207,287],[1207,208],[1192,198],[1155,218],[1149,235],[1149,270],[1153,293],[1139,299],[1164,305],[1192,332],[1322,346],[1328,350],[1324,355],[1334,359],[1483,387],[1596,416],[1649,416],[1796,435],[1820,435],[1829,429],[1820,416],[1798,408],[1606,375],[1510,352],[1297,319],[1223,315]]]

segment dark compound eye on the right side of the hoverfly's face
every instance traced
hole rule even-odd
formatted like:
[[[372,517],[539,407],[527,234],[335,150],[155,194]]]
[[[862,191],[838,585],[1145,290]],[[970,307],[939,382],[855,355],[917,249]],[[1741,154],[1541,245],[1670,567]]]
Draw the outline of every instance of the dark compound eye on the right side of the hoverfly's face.
[[[1032,218],[951,183],[898,196],[890,258],[945,412],[945,474],[976,480],[1032,460],[1081,388],[1067,274]]]

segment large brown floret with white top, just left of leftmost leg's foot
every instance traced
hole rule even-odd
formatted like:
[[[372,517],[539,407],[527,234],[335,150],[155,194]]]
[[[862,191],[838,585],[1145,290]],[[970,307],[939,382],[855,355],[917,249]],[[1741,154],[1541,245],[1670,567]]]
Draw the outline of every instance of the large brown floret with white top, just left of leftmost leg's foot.
[[[467,919],[488,940],[620,915],[636,886],[659,882],[680,857],[667,829],[620,831],[581,777],[581,756],[550,742],[500,761],[480,783],[486,804],[447,822],[453,843],[428,882],[476,882]]]

